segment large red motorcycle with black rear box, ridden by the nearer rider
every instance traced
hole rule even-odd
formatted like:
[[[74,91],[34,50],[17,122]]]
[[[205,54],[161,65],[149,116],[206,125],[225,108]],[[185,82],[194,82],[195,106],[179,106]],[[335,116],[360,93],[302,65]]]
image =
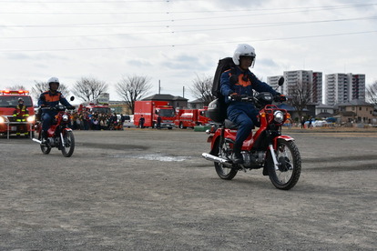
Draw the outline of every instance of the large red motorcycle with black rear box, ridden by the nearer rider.
[[[270,176],[273,186],[289,190],[297,184],[301,175],[301,156],[290,136],[281,135],[281,126],[290,114],[285,109],[271,105],[270,93],[260,93],[252,97],[241,97],[241,101],[253,102],[260,109],[260,128],[243,142],[241,154],[243,164],[233,164],[230,156],[236,140],[237,126],[225,119],[212,126],[207,133],[211,143],[209,154],[202,156],[215,163],[216,172],[222,179],[231,180],[239,170],[263,168],[263,176]],[[209,104],[209,110],[219,108],[219,101]],[[218,111],[217,111],[218,112]],[[210,114],[210,113],[209,113]],[[209,115],[210,117],[211,115]],[[216,121],[216,115],[210,117]]]

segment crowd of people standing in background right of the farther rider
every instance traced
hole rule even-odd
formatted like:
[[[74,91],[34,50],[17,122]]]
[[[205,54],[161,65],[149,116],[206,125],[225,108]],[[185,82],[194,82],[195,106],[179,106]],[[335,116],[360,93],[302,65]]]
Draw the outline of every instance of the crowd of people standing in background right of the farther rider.
[[[98,114],[91,112],[71,113],[71,125],[73,130],[123,130],[125,118],[123,115]]]

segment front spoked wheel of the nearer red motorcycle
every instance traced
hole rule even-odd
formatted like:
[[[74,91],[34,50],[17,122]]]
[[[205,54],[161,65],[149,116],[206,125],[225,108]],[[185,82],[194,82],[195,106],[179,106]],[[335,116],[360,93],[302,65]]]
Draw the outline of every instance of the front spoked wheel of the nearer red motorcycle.
[[[282,190],[289,190],[297,184],[301,175],[301,156],[299,149],[293,141],[278,140],[275,151],[279,168],[276,170],[269,154],[267,165],[270,181],[273,186]]]

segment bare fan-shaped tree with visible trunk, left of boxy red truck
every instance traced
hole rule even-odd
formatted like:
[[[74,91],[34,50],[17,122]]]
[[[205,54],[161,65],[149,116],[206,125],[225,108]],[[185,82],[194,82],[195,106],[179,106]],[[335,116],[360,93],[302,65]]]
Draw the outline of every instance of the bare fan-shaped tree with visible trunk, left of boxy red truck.
[[[143,75],[123,76],[117,83],[116,88],[118,95],[123,97],[126,105],[132,111],[135,110],[135,101],[140,100],[144,95],[147,95],[150,88],[149,78]]]

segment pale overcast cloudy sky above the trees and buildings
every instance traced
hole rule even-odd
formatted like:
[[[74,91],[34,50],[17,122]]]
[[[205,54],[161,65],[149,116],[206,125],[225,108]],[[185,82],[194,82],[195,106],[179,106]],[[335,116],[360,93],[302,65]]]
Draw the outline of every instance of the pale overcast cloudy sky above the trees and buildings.
[[[253,45],[262,80],[288,70],[377,81],[372,0],[0,0],[0,89],[57,76],[106,81],[146,75],[150,94],[183,95],[219,58]],[[324,79],[323,79],[324,82]]]

